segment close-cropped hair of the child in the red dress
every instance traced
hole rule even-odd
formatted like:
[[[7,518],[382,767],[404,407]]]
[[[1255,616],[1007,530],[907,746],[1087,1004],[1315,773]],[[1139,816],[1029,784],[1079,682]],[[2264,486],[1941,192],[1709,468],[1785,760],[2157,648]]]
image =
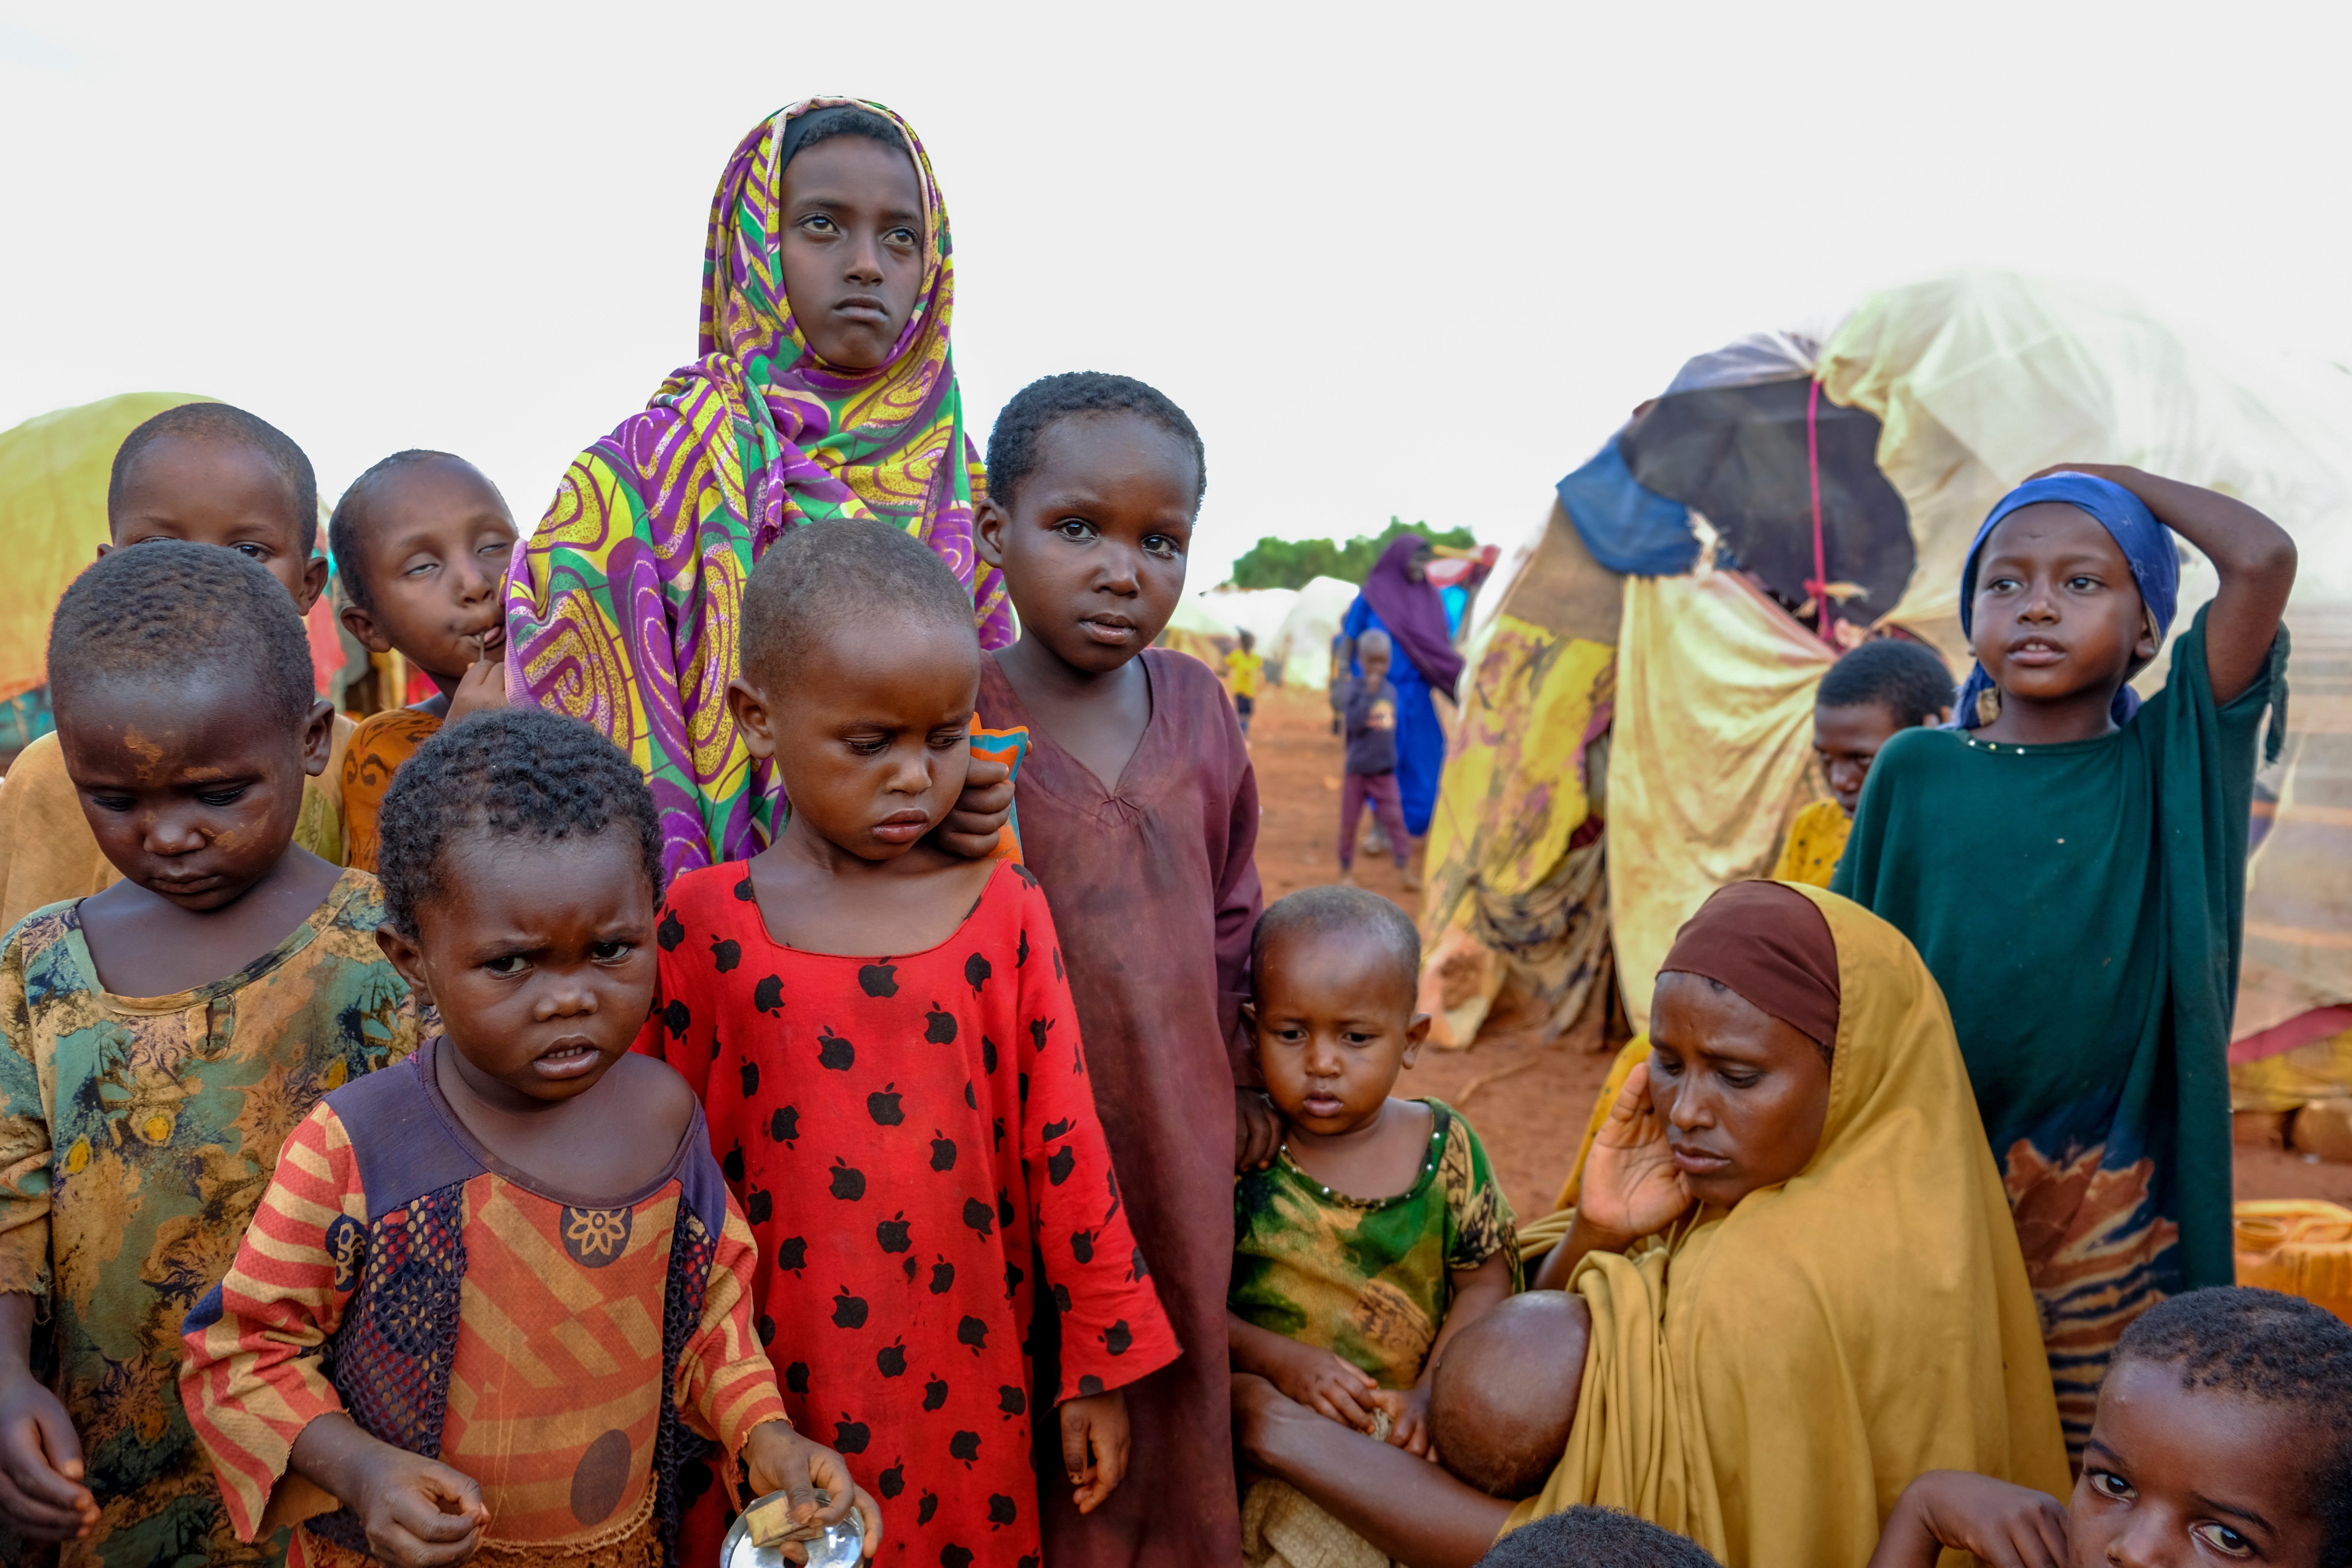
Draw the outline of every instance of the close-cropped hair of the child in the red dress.
[[[948,562],[882,522],[809,522],[767,548],[743,588],[743,675],[757,684],[797,670],[842,621],[877,616],[971,637],[971,595]]]

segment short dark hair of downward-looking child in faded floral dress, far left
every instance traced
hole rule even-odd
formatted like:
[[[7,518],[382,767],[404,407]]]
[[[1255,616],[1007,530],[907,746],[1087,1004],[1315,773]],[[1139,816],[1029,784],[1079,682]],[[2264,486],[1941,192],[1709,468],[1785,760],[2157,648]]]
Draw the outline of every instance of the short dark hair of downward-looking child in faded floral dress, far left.
[[[287,731],[315,701],[310,642],[278,578],[235,550],[160,538],[99,557],[49,618],[49,701],[111,684],[183,686],[216,675]]]

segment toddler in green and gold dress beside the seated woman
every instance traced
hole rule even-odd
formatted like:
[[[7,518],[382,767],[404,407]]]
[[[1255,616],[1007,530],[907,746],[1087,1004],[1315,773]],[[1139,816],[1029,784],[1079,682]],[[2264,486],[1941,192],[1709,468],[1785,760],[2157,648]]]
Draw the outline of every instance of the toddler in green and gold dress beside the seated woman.
[[[1282,1152],[1235,1180],[1232,1368],[1418,1455],[1446,1342],[1519,1288],[1486,1150],[1439,1100],[1392,1100],[1430,1032],[1421,936],[1374,893],[1275,903],[1251,945],[1254,1032]]]

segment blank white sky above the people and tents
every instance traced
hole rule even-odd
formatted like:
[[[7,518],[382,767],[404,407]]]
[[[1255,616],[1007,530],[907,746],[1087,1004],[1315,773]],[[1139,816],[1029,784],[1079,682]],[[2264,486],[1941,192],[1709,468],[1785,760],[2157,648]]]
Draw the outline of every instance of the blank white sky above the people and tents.
[[[2352,362],[2347,16],[0,0],[0,428],[207,393],[327,496],[447,447],[529,527],[691,357],[727,150],[847,92],[931,150],[981,440],[1063,369],[1200,423],[1195,588],[1508,541],[1691,353],[1955,266]]]

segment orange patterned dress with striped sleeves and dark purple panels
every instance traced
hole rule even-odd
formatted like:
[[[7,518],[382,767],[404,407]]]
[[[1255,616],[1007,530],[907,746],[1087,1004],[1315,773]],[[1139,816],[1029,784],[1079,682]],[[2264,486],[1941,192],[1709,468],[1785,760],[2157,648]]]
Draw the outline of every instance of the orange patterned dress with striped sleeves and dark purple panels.
[[[466,1133],[437,1048],[320,1103],[188,1314],[181,1394],[230,1521],[254,1540],[303,1519],[296,1568],[372,1561],[360,1521],[287,1476],[301,1429],[346,1410],[482,1488],[477,1563],[659,1563],[680,1462],[783,1420],[710,1133],[696,1112],[647,1190],[579,1204]]]

